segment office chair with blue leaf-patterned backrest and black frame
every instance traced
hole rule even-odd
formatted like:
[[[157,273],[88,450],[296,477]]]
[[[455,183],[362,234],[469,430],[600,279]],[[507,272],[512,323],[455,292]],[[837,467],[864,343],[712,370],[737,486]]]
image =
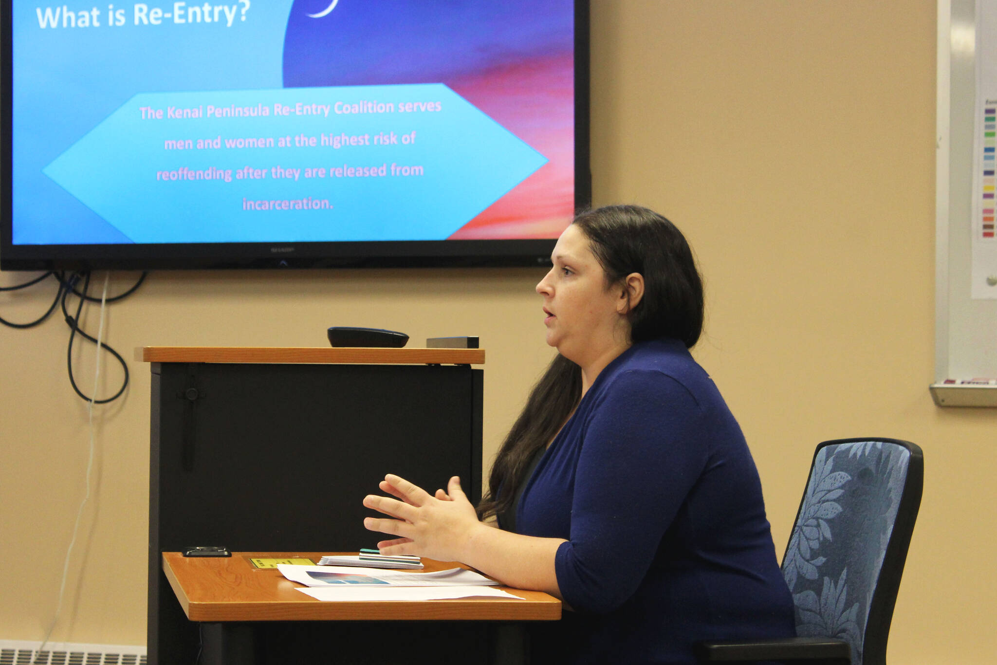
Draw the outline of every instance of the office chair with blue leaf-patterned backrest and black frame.
[[[799,637],[701,642],[697,658],[885,665],[923,482],[921,449],[906,441],[818,446],[782,565]]]

